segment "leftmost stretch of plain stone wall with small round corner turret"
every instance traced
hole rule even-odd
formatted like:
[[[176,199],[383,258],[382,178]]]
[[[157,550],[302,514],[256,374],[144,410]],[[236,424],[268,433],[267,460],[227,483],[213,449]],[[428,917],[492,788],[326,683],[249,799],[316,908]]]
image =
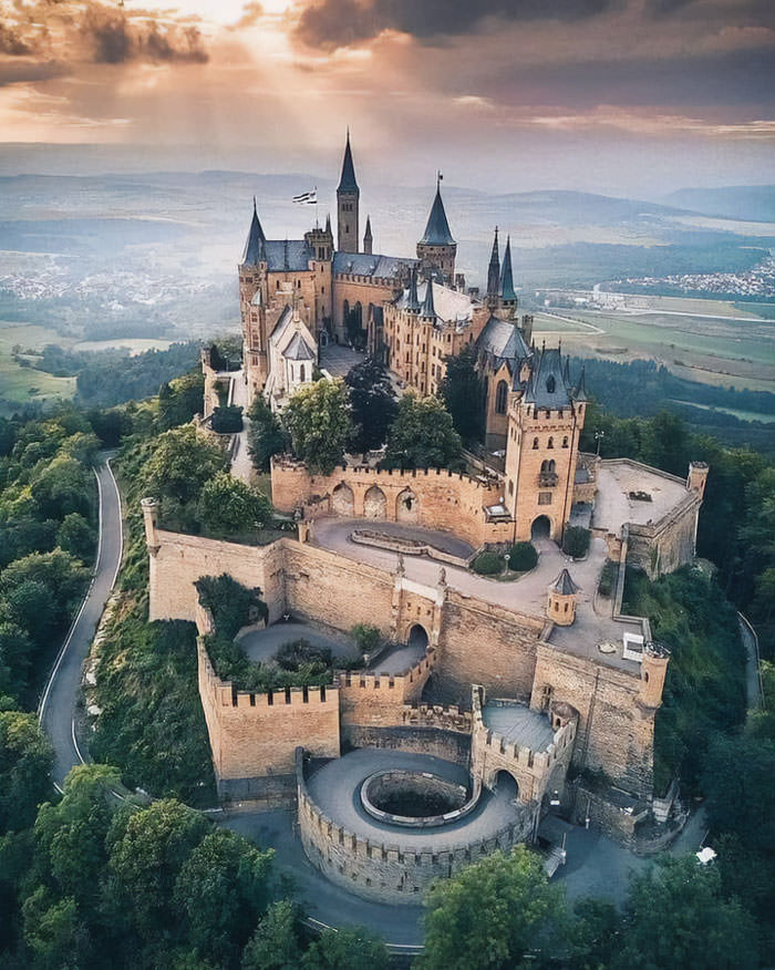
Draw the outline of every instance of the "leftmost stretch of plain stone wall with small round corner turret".
[[[281,543],[241,546],[157,529],[154,548],[148,582],[151,620],[195,620],[194,582],[203,576],[220,576],[221,572],[228,572],[250,589],[260,587],[269,607],[269,622],[286,611]]]

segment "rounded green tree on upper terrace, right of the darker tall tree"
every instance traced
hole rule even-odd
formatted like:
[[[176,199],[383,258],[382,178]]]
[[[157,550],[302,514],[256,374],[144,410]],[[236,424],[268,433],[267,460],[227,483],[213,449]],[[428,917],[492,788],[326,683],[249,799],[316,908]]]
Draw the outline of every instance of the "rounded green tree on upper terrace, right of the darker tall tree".
[[[447,468],[462,458],[459,434],[438,398],[404,394],[388,434],[385,465],[397,468]]]

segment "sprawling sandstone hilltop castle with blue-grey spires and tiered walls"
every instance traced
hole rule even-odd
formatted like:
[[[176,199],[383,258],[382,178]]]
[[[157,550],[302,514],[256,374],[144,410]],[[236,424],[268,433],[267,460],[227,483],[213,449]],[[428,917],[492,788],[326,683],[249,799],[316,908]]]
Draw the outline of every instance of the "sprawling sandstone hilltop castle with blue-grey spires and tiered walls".
[[[257,546],[165,529],[146,498],[149,617],[197,625],[220,795],[292,805],[329,878],[411,902],[487,852],[535,842],[554,814],[632,842],[669,812],[653,788],[653,737],[670,658],[648,618],[621,605],[628,568],[657,577],[692,561],[709,469],[692,463],[682,479],[582,454],[583,378],[571,381],[559,348],[533,345],[508,242],[502,264],[496,236],[479,299],[455,274],[438,185],[416,259],[373,255],[370,220],[356,251],[359,198],[348,140],[337,250],[330,221],[277,241],[254,211],[239,264],[244,370],[227,375],[229,400],[242,382],[281,409],[319,376],[321,345],[361,330],[420,394],[473,344],[486,445],[503,463],[490,454],[458,474],[350,461],[319,475],[277,456],[272,502],[297,535]],[[580,560],[558,545],[569,524],[590,533]],[[520,540],[539,557],[516,581],[471,570],[483,549]],[[383,647],[324,687],[239,690],[210,662],[213,617],[195,588],[223,572],[260,588],[270,628],[370,625]],[[402,814],[407,793],[442,808]]]

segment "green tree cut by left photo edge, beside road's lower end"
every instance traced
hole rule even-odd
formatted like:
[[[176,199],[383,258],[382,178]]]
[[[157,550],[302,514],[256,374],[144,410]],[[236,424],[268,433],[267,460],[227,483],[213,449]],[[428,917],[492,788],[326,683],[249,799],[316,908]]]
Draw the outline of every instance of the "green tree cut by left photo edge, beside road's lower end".
[[[32,825],[51,795],[51,742],[34,714],[0,711],[0,835]]]

